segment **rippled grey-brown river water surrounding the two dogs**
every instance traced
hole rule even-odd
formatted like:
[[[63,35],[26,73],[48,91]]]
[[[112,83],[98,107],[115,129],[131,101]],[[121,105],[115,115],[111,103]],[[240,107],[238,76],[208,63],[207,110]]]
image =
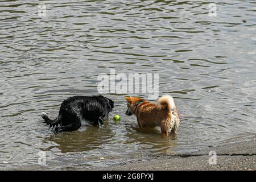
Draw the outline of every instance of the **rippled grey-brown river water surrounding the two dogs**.
[[[0,169],[108,167],[255,137],[254,0],[214,1],[216,17],[208,1],[44,2],[40,17],[39,1],[0,1]],[[110,68],[159,73],[181,114],[177,137],[139,131],[127,94],[105,94],[115,108],[104,128],[47,130],[41,111],[55,118],[65,98],[96,94]]]

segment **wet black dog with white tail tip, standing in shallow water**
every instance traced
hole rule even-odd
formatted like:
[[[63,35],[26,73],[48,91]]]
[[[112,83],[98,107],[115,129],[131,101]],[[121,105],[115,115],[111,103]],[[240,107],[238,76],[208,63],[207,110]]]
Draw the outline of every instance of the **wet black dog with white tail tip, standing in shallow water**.
[[[74,96],[61,104],[56,119],[49,119],[46,113],[42,114],[42,118],[49,129],[56,126],[56,132],[75,131],[81,127],[82,122],[101,127],[113,108],[114,102],[104,96]]]

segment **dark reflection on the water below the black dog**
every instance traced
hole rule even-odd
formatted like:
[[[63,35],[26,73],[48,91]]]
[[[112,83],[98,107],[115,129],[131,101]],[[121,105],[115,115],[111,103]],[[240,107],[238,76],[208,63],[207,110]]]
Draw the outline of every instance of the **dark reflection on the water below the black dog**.
[[[104,123],[104,127],[99,128],[96,126],[82,126],[77,131],[52,133],[49,137],[43,139],[43,142],[56,143],[55,146],[48,147],[47,150],[58,148],[61,153],[67,152],[83,152],[101,148],[114,137],[114,133],[107,127],[108,123]]]

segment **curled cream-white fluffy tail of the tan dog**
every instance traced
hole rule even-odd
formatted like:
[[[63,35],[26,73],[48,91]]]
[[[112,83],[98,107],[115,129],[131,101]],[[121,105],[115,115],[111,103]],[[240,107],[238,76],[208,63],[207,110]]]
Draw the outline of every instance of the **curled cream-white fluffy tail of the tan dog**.
[[[158,99],[156,103],[156,108],[158,109],[168,109],[168,110],[176,110],[176,105],[174,102],[174,98],[170,95],[162,96]]]

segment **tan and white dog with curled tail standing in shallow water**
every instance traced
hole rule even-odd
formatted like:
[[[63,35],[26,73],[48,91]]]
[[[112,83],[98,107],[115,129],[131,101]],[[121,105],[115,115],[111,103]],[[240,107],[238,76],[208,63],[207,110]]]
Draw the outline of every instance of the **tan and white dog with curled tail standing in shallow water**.
[[[166,137],[170,131],[177,134],[180,119],[172,96],[162,96],[156,104],[139,97],[125,97],[125,99],[128,107],[125,114],[135,114],[140,128],[160,126],[162,134]]]

